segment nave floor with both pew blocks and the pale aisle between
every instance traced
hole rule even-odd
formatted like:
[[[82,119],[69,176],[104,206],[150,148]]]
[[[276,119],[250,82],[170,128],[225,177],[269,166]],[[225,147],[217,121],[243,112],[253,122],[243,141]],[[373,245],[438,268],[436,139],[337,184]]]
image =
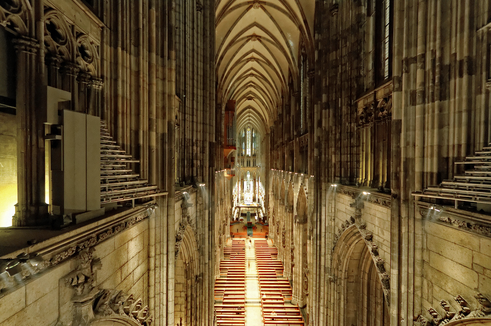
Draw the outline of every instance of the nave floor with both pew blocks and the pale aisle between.
[[[217,326],[305,325],[272,240],[229,239],[215,283]]]

